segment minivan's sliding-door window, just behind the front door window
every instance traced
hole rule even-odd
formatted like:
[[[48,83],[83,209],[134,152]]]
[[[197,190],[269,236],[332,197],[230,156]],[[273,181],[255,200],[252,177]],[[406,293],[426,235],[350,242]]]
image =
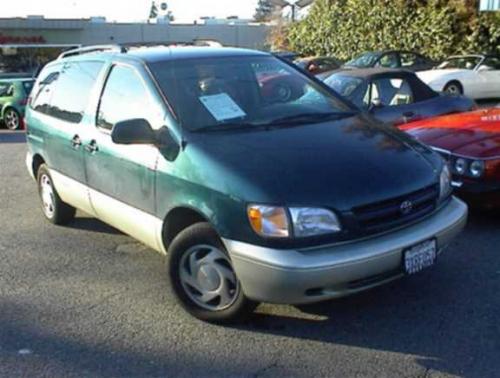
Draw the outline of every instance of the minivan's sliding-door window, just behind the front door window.
[[[63,121],[79,123],[102,67],[102,62],[64,64],[52,96],[50,115]]]

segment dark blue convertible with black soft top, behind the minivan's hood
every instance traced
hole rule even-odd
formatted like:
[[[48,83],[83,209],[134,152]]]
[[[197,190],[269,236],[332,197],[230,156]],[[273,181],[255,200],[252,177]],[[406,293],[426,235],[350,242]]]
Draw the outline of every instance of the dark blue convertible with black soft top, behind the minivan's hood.
[[[394,125],[475,109],[474,100],[433,91],[415,73],[368,68],[323,74],[322,80],[356,106]]]

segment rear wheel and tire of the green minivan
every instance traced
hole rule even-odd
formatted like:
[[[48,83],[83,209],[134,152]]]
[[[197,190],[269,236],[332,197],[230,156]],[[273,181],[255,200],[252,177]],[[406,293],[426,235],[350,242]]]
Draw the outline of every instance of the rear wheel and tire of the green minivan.
[[[75,218],[76,209],[63,202],[57,194],[47,165],[42,164],[37,172],[38,193],[43,215],[54,224],[67,224]]]

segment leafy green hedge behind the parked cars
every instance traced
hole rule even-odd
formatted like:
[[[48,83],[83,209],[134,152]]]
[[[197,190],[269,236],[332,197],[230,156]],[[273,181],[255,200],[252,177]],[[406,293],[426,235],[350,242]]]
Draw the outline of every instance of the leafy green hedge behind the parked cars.
[[[278,25],[271,44],[339,59],[382,49],[500,54],[500,12],[478,8],[478,0],[316,0],[303,20]]]

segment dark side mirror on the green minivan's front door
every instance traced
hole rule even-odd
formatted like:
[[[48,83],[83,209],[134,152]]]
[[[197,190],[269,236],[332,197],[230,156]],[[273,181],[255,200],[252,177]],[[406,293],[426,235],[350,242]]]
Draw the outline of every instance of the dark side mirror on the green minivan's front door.
[[[116,123],[111,131],[111,140],[116,144],[158,144],[151,125],[142,118]]]

